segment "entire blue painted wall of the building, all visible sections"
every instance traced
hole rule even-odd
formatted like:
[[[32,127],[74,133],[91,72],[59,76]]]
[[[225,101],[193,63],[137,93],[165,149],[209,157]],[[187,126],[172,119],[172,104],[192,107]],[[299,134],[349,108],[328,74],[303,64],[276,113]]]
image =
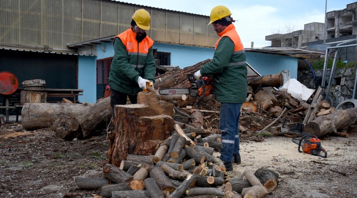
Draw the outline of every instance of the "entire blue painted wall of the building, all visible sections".
[[[105,46],[105,51],[103,51]],[[171,53],[171,65],[181,69],[206,59],[211,59],[214,49],[155,42],[154,49]],[[78,89],[83,89],[80,102],[96,102],[96,60],[112,57],[112,43],[97,45],[97,56],[78,56]],[[297,58],[283,55],[246,52],[247,62],[261,75],[270,75],[289,70],[290,77],[297,79]]]

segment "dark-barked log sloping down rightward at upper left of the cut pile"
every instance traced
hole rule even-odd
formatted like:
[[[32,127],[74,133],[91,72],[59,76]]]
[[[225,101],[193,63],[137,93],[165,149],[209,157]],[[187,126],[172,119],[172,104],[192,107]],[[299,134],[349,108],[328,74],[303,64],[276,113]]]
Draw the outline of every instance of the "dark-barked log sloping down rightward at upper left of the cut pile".
[[[112,180],[115,183],[122,183],[133,179],[132,175],[117,168],[112,164],[106,164],[103,167],[103,177]]]

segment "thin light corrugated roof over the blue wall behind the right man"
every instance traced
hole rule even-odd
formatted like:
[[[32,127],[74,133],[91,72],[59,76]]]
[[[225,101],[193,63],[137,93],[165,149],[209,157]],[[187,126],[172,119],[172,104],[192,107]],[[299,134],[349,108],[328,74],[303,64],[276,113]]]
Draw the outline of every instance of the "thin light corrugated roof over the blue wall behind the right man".
[[[323,54],[317,51],[309,51],[303,49],[294,49],[294,48],[245,48],[247,52],[257,52],[257,53],[269,53],[277,55],[302,55],[302,54]]]

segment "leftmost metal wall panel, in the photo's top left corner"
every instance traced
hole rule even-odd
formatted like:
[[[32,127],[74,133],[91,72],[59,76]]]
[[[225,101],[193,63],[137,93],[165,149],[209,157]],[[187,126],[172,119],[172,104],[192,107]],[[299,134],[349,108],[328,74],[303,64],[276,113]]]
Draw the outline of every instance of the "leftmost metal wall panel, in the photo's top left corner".
[[[0,0],[0,42],[19,44],[19,11],[17,0]]]

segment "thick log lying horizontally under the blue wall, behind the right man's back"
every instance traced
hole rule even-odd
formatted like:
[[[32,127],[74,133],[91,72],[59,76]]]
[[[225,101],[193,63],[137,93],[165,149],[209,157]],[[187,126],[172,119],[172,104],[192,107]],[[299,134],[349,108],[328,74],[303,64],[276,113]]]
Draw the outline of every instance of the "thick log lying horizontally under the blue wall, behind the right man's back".
[[[284,84],[282,73],[256,76],[247,78],[248,85],[252,87],[280,87]]]

